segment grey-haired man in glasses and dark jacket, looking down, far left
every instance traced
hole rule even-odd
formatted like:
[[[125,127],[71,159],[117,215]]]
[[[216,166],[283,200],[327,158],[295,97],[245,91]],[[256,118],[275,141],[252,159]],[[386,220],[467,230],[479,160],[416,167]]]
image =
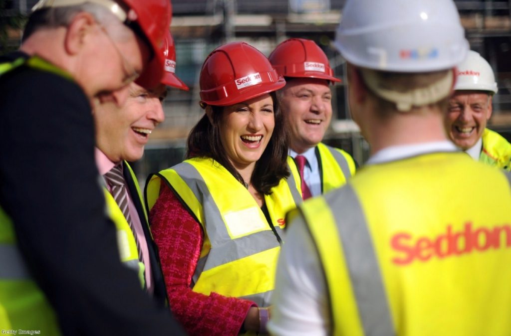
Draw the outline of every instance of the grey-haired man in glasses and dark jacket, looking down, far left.
[[[94,159],[95,100],[159,83],[168,0],[41,0],[0,60],[0,329],[180,334],[120,262]],[[123,90],[127,91],[127,90]]]

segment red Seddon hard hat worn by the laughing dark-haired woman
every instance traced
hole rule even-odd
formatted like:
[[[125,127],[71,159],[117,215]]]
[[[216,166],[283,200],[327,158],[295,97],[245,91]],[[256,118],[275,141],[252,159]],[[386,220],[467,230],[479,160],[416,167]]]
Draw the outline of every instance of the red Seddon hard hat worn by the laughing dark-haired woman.
[[[199,82],[201,106],[233,105],[286,85],[266,56],[245,42],[215,49],[202,65]]]

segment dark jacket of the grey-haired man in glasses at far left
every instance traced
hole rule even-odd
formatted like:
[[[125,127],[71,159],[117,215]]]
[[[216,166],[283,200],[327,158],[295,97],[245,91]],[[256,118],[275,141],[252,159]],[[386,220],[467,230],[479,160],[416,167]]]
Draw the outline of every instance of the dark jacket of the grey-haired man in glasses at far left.
[[[83,91],[22,67],[0,77],[0,205],[67,335],[184,334],[122,266]]]

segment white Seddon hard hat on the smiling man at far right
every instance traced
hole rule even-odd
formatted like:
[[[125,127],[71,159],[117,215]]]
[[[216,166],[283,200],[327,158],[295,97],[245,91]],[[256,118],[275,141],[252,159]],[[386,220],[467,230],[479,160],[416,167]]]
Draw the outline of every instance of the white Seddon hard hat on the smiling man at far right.
[[[481,90],[497,93],[497,83],[492,67],[484,58],[470,50],[467,58],[458,65],[455,90]]]

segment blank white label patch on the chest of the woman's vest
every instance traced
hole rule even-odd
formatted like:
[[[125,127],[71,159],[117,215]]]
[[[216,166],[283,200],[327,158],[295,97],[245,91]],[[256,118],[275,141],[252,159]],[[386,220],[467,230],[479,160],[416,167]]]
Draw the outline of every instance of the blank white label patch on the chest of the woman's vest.
[[[257,207],[229,212],[224,215],[224,219],[231,238],[245,236],[268,228],[268,225],[261,220]]]

